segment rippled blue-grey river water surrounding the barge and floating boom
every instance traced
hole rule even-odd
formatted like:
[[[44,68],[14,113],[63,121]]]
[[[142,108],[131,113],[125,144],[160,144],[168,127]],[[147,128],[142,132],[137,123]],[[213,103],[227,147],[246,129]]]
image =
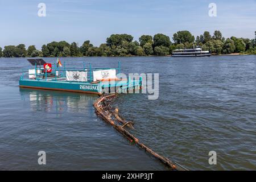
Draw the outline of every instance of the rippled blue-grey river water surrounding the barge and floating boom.
[[[55,63],[55,58],[46,58]],[[67,65],[159,73],[159,98],[122,94],[131,131],[189,169],[256,169],[256,56],[79,57]],[[166,170],[94,113],[97,96],[19,89],[26,59],[0,58],[0,169]],[[45,166],[38,151],[46,151]],[[217,165],[209,165],[209,151]]]

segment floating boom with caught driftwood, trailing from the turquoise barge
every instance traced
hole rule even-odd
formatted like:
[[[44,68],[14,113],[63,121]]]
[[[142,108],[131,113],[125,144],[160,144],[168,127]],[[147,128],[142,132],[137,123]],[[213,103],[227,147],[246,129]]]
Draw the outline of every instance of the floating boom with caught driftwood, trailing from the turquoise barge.
[[[178,171],[187,171],[187,169],[180,166],[180,164],[177,164],[176,162],[171,161],[170,159],[165,158],[164,156],[156,154],[156,152],[152,151],[149,147],[139,142],[138,138],[134,137],[134,135],[130,134],[129,131],[125,129],[126,126],[133,129],[134,123],[125,121],[125,119],[121,118],[118,115],[118,109],[112,108],[110,104],[112,103],[115,97],[117,97],[117,94],[108,94],[99,97],[96,100],[96,102],[94,102],[96,114],[99,117],[103,118],[106,122],[110,123],[110,125],[112,125],[115,130],[117,130],[119,133],[121,133],[123,136],[129,139],[130,142],[136,143],[137,146],[143,148],[145,151],[154,156],[156,159],[159,159],[161,162],[166,164],[171,169]]]

